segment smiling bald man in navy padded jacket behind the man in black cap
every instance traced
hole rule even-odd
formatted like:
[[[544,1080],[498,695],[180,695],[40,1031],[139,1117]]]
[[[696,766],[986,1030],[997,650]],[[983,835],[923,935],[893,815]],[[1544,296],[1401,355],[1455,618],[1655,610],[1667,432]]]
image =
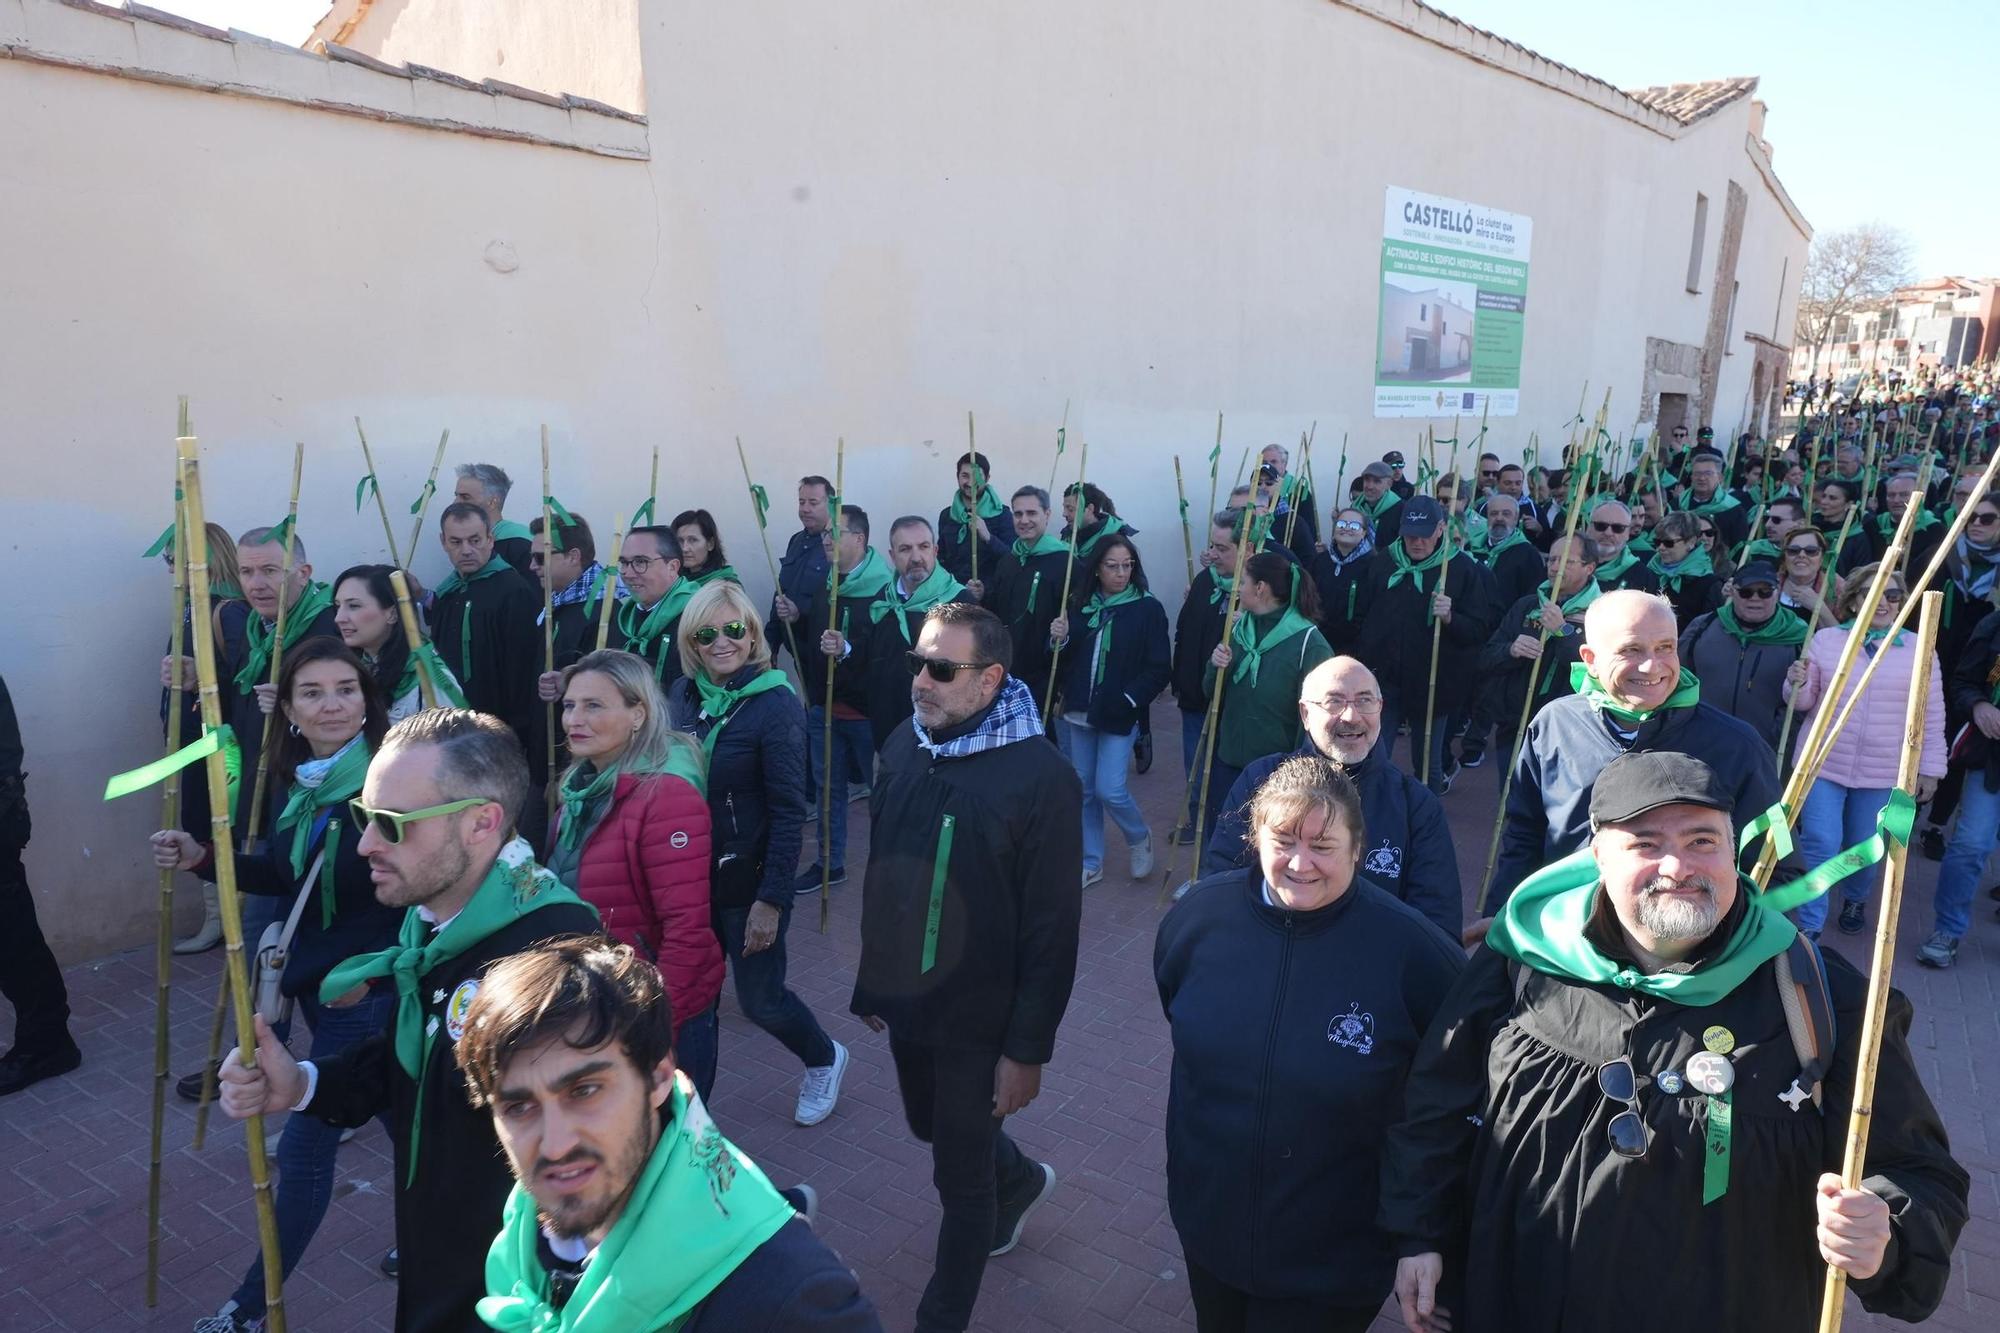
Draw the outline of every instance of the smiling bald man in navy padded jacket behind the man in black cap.
[[[1680,666],[1674,608],[1652,592],[1606,592],[1584,612],[1578,693],[1528,723],[1514,765],[1500,859],[1486,891],[1496,911],[1522,879],[1590,841],[1590,789],[1604,765],[1634,751],[1694,755],[1730,789],[1742,829],[1778,803],[1778,761],[1748,723],[1700,701]],[[1752,845],[1746,861],[1756,859]],[[1796,855],[1778,881],[1798,873]]]

